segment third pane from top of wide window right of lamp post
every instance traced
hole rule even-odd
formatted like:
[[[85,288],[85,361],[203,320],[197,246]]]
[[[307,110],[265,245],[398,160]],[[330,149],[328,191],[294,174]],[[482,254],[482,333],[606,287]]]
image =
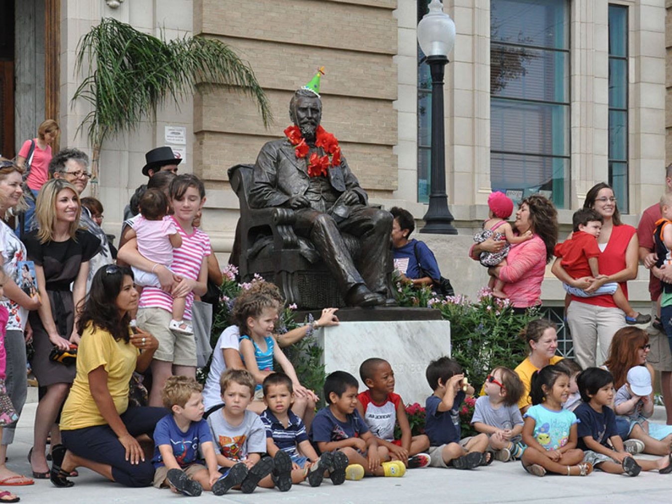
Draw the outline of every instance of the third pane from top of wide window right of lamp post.
[[[569,156],[569,106],[491,98],[490,149]]]

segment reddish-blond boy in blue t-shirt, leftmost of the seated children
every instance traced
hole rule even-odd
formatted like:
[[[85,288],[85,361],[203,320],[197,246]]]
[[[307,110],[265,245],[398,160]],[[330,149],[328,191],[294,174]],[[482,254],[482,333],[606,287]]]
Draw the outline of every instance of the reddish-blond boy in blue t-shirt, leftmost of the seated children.
[[[161,398],[171,411],[154,429],[154,486],[171,486],[183,495],[197,497],[217,485],[220,472],[208,423],[203,419],[203,387],[186,376],[166,380]],[[201,448],[204,460],[198,452]]]

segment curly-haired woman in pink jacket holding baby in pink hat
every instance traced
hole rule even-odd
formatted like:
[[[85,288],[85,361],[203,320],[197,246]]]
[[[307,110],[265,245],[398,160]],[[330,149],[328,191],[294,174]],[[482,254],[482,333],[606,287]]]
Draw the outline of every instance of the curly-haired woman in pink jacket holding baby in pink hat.
[[[558,212],[544,196],[529,196],[515,212],[513,228],[519,235],[532,231],[532,239],[511,247],[507,265],[491,267],[490,272],[505,282],[504,293],[514,310],[524,312],[542,304],[544,271],[558,241]],[[498,252],[503,246],[489,238],[471,247],[469,255],[478,260],[481,252]]]

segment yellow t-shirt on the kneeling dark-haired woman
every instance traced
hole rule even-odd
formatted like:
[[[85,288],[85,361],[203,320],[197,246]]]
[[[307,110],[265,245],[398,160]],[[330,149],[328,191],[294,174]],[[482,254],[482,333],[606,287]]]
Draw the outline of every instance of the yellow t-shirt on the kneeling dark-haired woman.
[[[123,339],[115,341],[108,331],[87,326],[77,349],[77,375],[60,415],[60,429],[71,431],[106,425],[89,388],[89,373],[99,366],[108,372],[108,390],[120,415],[128,408],[128,382],[140,351]]]

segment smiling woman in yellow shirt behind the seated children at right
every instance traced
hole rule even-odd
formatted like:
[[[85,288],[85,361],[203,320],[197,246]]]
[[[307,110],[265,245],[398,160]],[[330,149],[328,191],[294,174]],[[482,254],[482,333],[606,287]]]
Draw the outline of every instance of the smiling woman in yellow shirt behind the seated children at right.
[[[532,406],[532,399],[530,398],[532,375],[549,364],[556,364],[556,362],[562,360],[562,357],[555,354],[558,349],[558,335],[555,325],[546,319],[530,321],[521,331],[521,337],[530,347],[530,355],[518,364],[514,371],[525,388],[520,401],[518,401],[520,412],[525,413]]]

